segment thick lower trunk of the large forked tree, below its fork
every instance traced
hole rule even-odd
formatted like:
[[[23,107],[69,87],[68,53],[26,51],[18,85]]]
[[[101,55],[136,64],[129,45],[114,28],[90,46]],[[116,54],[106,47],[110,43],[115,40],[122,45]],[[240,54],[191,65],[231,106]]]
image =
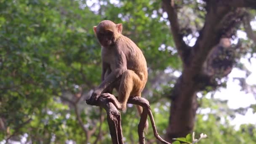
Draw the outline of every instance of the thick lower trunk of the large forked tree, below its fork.
[[[172,94],[169,126],[165,139],[173,141],[173,138],[184,137],[191,133],[195,123],[197,110],[197,96],[192,83],[186,83],[183,76],[179,77]]]

